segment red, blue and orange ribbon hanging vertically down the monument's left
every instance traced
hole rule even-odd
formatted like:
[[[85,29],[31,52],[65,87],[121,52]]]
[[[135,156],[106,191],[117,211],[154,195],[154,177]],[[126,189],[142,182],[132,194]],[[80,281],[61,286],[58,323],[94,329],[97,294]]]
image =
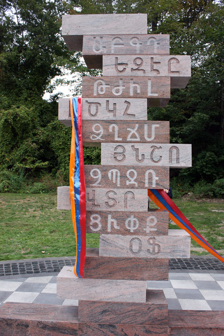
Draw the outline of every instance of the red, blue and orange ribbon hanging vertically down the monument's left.
[[[74,274],[84,278],[86,257],[86,187],[82,140],[82,97],[70,99],[72,140],[70,153],[70,199],[72,222],[76,236]]]

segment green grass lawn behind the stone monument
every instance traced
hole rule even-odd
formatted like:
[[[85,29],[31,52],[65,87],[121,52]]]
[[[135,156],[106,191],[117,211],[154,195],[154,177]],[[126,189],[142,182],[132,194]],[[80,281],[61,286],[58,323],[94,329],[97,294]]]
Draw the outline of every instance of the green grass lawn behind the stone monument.
[[[224,201],[174,199],[196,229],[224,254]],[[178,228],[170,224],[170,228]],[[87,234],[87,247],[99,234]],[[192,254],[207,254],[192,240]],[[71,212],[57,210],[55,194],[0,194],[0,260],[74,256]]]

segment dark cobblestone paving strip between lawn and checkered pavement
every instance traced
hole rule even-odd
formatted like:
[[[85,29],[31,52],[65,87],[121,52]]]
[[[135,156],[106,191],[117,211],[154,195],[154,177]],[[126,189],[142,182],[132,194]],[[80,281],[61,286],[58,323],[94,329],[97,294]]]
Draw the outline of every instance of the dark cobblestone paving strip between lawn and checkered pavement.
[[[0,279],[5,276],[26,277],[27,275],[38,276],[46,273],[56,275],[63,266],[73,266],[74,264],[75,257],[0,261]],[[208,256],[191,256],[189,259],[171,258],[169,261],[169,270],[224,272],[224,263]]]

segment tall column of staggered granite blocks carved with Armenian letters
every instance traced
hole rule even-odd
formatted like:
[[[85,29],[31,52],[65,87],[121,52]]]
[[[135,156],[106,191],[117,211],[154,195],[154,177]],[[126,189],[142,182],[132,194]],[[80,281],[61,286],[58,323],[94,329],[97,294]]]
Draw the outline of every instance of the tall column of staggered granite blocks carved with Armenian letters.
[[[80,336],[168,335],[163,291],[145,281],[168,280],[169,258],[190,257],[190,235],[148,209],[147,189],[169,188],[169,167],[191,167],[191,145],[170,144],[169,122],[147,121],[147,107],[185,88],[190,56],[169,55],[169,35],[148,35],[146,14],[64,16],[62,35],[89,68],[103,67],[82,91],[83,143],[101,145],[101,165],[85,166],[86,232],[100,233],[100,247],[87,249],[84,279],[62,269],[57,295],[79,300]],[[70,114],[61,99],[59,120],[71,126]],[[58,188],[58,209],[71,209],[69,187]]]

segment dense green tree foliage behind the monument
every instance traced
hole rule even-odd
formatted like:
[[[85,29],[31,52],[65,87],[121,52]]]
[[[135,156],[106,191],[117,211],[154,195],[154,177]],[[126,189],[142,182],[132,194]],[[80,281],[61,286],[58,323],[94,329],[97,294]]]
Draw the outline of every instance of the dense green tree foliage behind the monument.
[[[57,121],[57,97],[42,97],[64,69],[97,72],[85,67],[81,52],[68,51],[61,15],[137,12],[147,13],[149,34],[170,34],[171,54],[192,58],[187,88],[172,89],[166,108],[148,110],[149,119],[170,120],[171,142],[192,143],[193,167],[172,175],[192,185],[224,176],[223,0],[2,0],[0,169],[68,175],[71,130]],[[99,162],[99,148],[84,155],[86,163]]]

